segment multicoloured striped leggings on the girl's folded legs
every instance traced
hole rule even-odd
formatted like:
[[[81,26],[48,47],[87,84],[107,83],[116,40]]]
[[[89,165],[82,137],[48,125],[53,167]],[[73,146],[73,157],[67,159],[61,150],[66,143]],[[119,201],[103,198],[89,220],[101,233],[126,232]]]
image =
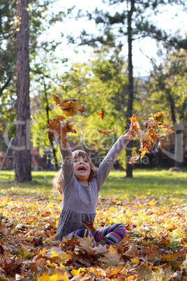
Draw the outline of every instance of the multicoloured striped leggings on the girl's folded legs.
[[[112,243],[119,244],[122,239],[126,236],[126,229],[123,224],[112,224],[111,226],[105,226],[101,229],[96,230],[94,233],[91,233],[87,229],[78,229],[72,233],[69,233],[66,238],[72,239],[74,234],[79,237],[93,237],[94,244],[102,240],[102,238],[107,237],[105,244],[109,245]]]

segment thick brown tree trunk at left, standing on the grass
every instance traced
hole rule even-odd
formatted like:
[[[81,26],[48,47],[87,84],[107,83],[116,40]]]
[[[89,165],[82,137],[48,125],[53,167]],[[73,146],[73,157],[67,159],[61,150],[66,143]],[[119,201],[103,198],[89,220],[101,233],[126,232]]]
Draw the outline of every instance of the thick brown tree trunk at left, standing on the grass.
[[[26,182],[31,178],[30,101],[29,101],[29,0],[17,1],[17,15],[20,19],[17,31],[16,66],[16,151],[15,181]]]

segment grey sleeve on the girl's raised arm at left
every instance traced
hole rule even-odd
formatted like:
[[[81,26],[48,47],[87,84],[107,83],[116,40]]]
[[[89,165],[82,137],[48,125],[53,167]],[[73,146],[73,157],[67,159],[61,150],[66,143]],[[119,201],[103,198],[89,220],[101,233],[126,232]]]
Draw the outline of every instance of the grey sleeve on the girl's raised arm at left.
[[[70,150],[70,145],[67,143],[67,150],[61,149],[59,144],[59,150],[61,152],[61,170],[62,178],[61,185],[63,192],[68,189],[74,178],[74,166],[73,166],[73,154]]]

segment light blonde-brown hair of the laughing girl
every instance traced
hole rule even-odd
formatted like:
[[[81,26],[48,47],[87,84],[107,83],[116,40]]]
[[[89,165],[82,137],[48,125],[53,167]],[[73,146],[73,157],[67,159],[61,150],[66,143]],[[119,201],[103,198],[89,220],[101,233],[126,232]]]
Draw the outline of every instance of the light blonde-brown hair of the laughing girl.
[[[84,159],[87,159],[89,161],[90,165],[90,174],[89,174],[89,179],[88,182],[94,177],[96,177],[96,171],[98,168],[94,166],[93,162],[91,161],[91,158],[87,154],[87,152],[84,152],[83,150],[75,150],[73,153],[73,159],[76,159],[77,157],[82,157]],[[57,191],[61,194],[62,193],[62,186],[61,186],[61,176],[62,176],[62,169],[60,168],[59,171],[57,171],[57,174],[54,176],[52,180],[52,185],[53,185],[53,190]]]

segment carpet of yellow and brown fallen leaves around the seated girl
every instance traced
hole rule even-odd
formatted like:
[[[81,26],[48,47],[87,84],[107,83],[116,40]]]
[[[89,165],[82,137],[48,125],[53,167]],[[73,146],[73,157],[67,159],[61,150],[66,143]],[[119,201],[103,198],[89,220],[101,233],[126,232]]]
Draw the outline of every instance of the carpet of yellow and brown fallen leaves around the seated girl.
[[[97,228],[124,223],[119,245],[54,240],[61,198],[1,190],[0,280],[187,280],[187,206],[173,196],[98,199]]]

